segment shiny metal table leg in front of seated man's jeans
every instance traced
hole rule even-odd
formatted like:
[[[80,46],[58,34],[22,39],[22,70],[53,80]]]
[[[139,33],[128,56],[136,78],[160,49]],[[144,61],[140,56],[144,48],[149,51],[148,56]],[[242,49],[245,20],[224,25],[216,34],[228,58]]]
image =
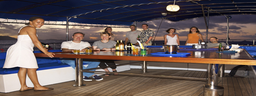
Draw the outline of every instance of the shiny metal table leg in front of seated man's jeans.
[[[83,59],[75,59],[75,84],[73,86],[83,86]]]

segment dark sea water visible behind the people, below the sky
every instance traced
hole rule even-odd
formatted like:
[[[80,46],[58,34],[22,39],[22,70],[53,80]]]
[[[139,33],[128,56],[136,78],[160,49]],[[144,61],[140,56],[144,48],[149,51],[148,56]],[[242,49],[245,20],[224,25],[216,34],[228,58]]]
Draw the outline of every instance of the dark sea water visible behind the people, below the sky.
[[[16,42],[17,42],[16,40],[0,40],[0,49],[3,49],[3,51],[0,50],[0,52],[6,52],[7,49],[11,47],[13,44],[15,44]],[[40,42],[49,44],[51,48],[54,48],[54,44],[56,44],[55,45],[56,49],[60,49],[61,43],[64,41],[63,40],[40,40]],[[87,42],[89,42],[91,45],[94,43],[94,41],[87,41]],[[219,40],[219,42],[226,42],[226,41]],[[186,41],[180,41],[180,45],[185,45],[185,43]],[[247,45],[253,45],[253,42],[252,41],[228,41],[228,45],[231,45],[231,44],[247,46]],[[153,45],[164,45],[164,41],[154,41]],[[34,47],[34,50],[39,50],[39,49]]]

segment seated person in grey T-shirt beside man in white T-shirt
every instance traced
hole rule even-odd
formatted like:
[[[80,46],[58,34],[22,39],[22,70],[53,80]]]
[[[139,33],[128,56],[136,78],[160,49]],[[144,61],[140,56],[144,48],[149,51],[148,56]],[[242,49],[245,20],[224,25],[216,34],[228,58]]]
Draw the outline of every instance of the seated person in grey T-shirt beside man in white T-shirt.
[[[116,42],[113,40],[110,40],[110,34],[107,32],[100,33],[100,41],[95,41],[92,45],[92,48],[94,50],[115,50],[115,44]],[[100,60],[100,67],[103,67],[102,69],[106,72],[109,72],[107,65],[112,66],[110,67],[113,72],[117,72],[114,60]],[[109,76],[110,73],[106,73],[105,76]],[[117,73],[114,73],[114,75],[117,75]]]

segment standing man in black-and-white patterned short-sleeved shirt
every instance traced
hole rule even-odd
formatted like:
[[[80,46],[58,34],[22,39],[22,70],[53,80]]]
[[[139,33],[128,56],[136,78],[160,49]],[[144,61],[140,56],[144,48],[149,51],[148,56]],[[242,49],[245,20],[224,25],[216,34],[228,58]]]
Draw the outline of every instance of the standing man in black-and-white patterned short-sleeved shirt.
[[[142,33],[141,33],[141,43],[143,46],[147,46],[147,45],[152,45],[152,38],[154,36],[154,31],[148,29],[148,25],[147,24],[142,24]]]

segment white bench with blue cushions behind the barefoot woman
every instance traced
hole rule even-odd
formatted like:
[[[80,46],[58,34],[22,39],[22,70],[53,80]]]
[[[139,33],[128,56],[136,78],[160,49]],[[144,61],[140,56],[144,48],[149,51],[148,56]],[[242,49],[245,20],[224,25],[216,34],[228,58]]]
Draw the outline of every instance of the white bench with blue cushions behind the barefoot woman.
[[[49,50],[50,52],[61,52],[58,50]],[[34,53],[41,53],[41,51],[34,51]],[[15,68],[2,68],[6,57],[6,52],[0,53],[0,92],[8,93],[18,91],[20,89],[19,78],[17,72],[19,67]],[[47,57],[36,57],[38,63],[37,76],[38,81],[41,85],[57,84],[75,80],[75,70],[68,64],[60,62],[59,58],[47,58]],[[127,63],[125,60],[115,61],[116,64]],[[86,67],[87,64],[83,63]],[[110,71],[112,71],[109,68]],[[130,70],[129,65],[118,66],[116,68],[118,72]],[[104,72],[102,69],[96,71]],[[101,75],[104,73],[97,73]],[[33,87],[30,79],[26,78],[26,84],[28,87]],[[75,84],[75,82],[74,82]]]

